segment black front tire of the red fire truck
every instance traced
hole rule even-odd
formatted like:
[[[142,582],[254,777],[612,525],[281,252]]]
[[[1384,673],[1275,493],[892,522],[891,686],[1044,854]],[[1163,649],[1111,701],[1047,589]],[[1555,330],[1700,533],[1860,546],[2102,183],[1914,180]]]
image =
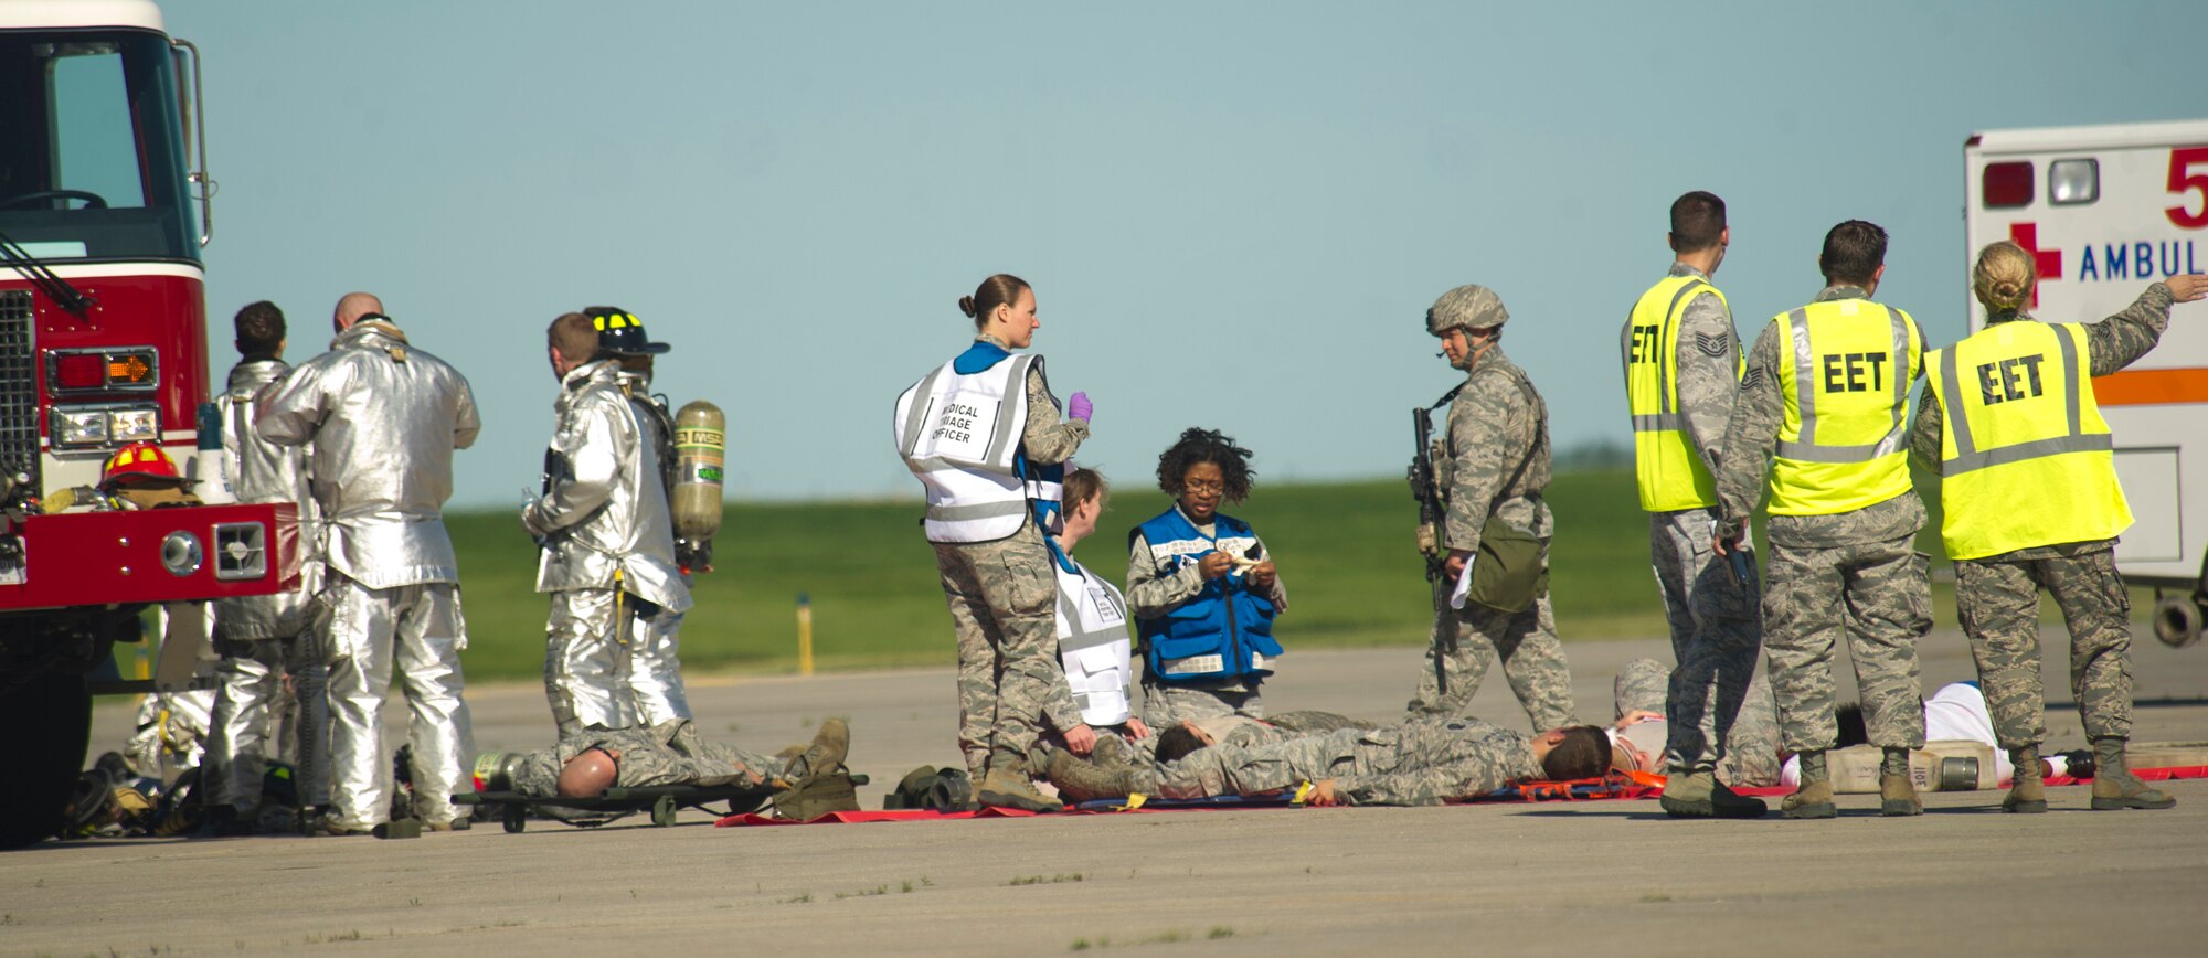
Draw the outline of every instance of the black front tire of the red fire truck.
[[[0,850],[62,832],[68,792],[84,770],[93,695],[84,675],[46,673],[0,695],[0,728],[42,728],[18,746],[20,775],[0,788]]]

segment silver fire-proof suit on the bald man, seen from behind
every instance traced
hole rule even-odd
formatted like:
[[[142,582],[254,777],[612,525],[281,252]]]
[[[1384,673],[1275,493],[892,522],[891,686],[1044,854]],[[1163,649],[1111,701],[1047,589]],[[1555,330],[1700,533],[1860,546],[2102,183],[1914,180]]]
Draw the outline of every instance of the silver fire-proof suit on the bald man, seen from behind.
[[[389,817],[382,704],[393,660],[406,680],[415,812],[446,823],[475,755],[459,671],[468,627],[442,514],[453,450],[475,444],[481,428],[468,380],[408,347],[391,322],[362,320],[263,397],[256,428],[314,453],[331,645],[331,826],[373,828]]]

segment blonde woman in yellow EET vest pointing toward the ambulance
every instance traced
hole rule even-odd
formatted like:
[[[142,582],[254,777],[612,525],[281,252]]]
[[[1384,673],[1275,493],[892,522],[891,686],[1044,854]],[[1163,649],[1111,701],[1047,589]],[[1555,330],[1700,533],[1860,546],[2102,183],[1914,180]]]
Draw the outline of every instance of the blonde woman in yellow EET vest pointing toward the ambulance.
[[[2131,528],[2131,505],[2093,377],[2155,349],[2170,305],[2208,296],[2208,276],[2170,276],[2093,324],[2034,320],[2025,305],[2036,285],[2020,245],[1978,252],[1972,294],[1985,305],[1985,329],[1925,355],[1928,388],[1910,435],[1917,459],[1941,477],[1956,611],[1994,735],[2016,764],[2000,810],[2047,810],[2040,589],[2071,634],[2071,695],[2093,739],[2093,808],[2170,808],[2177,799],[2124,762],[2131,594],[2115,574],[2115,536]]]

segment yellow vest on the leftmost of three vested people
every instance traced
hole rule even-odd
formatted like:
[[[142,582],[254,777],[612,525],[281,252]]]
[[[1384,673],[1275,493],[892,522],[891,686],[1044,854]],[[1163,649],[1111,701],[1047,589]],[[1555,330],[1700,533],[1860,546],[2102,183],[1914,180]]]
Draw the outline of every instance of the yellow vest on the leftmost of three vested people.
[[[1724,294],[1700,276],[1665,276],[1641,294],[1625,318],[1625,402],[1634,417],[1634,475],[1647,512],[1696,510],[1718,503],[1718,483],[1687,439],[1687,415],[1678,411],[1680,316],[1700,294]],[[1744,364],[1733,351],[1733,380]]]

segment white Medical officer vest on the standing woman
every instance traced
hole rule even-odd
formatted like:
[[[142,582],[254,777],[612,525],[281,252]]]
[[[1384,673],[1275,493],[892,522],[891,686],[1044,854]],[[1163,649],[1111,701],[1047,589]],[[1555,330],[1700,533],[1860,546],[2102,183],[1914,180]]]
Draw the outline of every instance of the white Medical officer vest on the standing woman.
[[[896,455],[927,488],[930,543],[987,543],[1027,523],[1029,486],[1013,461],[1027,426],[1027,371],[1013,355],[980,373],[949,362],[896,397]]]

